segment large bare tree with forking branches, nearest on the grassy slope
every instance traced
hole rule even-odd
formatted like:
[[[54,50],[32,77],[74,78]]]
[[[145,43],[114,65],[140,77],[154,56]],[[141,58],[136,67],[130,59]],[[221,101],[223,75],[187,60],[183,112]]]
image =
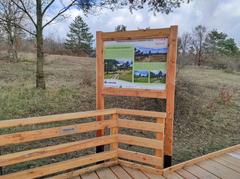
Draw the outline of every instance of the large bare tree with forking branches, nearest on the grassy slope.
[[[36,87],[46,88],[44,78],[44,49],[43,49],[43,31],[44,29],[71,8],[77,0],[67,1],[66,4],[63,1],[56,0],[9,0],[18,11],[24,13],[28,21],[31,23],[31,27],[27,28],[21,26],[15,22],[16,27],[28,32],[35,36],[37,46],[37,68],[36,68]],[[55,3],[55,4],[54,4]],[[58,5],[56,6],[56,4]],[[54,11],[53,11],[54,10]],[[51,13],[48,13],[51,11]],[[45,16],[48,16],[48,20],[45,20]]]

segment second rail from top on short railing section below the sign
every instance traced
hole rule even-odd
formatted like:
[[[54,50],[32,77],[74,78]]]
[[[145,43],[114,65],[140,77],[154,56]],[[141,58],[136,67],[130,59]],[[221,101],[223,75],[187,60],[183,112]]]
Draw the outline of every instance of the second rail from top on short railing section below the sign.
[[[127,119],[118,119],[118,127],[138,129],[151,132],[159,132],[159,140],[163,139],[164,124],[156,124],[153,122],[134,121]]]

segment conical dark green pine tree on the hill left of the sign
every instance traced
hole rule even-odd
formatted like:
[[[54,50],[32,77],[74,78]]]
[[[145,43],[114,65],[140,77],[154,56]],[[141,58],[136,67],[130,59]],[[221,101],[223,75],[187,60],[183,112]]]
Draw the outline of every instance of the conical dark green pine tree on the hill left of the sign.
[[[89,32],[88,25],[80,16],[70,24],[70,32],[67,34],[65,48],[74,54],[90,54],[92,51],[93,35]]]

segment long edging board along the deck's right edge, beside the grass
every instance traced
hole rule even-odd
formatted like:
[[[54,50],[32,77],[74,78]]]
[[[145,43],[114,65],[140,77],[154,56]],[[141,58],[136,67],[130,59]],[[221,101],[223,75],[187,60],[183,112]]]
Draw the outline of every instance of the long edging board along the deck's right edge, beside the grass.
[[[237,150],[239,148],[240,148],[240,144],[232,146],[232,147],[228,147],[226,149],[222,149],[222,150],[219,150],[219,151],[216,151],[216,152],[212,152],[212,153],[209,153],[209,154],[206,154],[206,155],[194,158],[192,160],[188,160],[186,162],[179,163],[179,164],[174,165],[172,167],[168,167],[168,168],[164,169],[164,172],[165,173],[173,172],[173,171],[176,171],[178,169],[184,168],[186,166],[194,165],[194,164],[196,164],[198,162],[201,162],[201,161],[204,161],[206,159],[211,159],[213,157],[217,157],[217,156],[223,155],[223,154],[225,154],[227,152],[235,151],[235,150]]]

